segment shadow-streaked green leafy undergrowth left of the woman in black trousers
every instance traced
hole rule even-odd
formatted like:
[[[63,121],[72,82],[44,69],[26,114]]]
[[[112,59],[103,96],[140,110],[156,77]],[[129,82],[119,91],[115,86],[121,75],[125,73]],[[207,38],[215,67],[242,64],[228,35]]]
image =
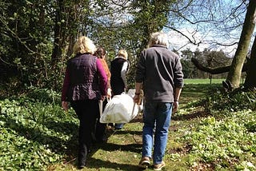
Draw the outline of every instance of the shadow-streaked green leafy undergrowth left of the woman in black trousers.
[[[78,120],[72,110],[36,97],[11,97],[0,106],[0,170],[46,170],[73,155]]]

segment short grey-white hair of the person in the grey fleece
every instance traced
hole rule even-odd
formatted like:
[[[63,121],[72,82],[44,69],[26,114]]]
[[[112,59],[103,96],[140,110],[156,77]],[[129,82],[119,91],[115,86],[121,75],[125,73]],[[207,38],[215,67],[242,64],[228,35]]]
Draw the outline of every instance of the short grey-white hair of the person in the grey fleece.
[[[168,37],[163,32],[155,32],[150,35],[150,41],[148,46],[152,47],[154,45],[162,45],[162,46],[168,46]]]

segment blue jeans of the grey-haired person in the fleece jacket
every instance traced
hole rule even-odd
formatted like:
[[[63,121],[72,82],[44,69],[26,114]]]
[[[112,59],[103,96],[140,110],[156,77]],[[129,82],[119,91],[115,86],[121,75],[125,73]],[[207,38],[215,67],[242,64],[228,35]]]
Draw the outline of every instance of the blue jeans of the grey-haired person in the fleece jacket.
[[[170,102],[146,102],[144,106],[142,157],[151,158],[154,145],[154,165],[160,164],[165,154],[171,111],[172,103]]]

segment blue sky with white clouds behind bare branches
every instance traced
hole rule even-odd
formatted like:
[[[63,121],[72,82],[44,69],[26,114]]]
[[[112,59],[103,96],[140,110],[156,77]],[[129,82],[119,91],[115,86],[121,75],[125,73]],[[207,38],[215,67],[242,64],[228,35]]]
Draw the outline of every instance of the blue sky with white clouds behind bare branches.
[[[200,6],[196,4],[198,2],[200,1],[194,1],[195,4],[193,5]],[[177,16],[174,14],[172,20],[170,21],[170,25],[173,25],[172,27],[182,32],[182,34],[186,34],[186,37],[190,39],[194,38],[195,42],[201,43],[199,46],[193,45],[181,34],[178,34],[173,30],[165,30],[166,34],[168,34],[170,37],[169,48],[178,51],[186,49],[190,49],[192,51],[199,49],[202,51],[207,48],[209,50],[223,50],[226,52],[226,54],[229,54],[230,57],[234,56],[238,44],[234,46],[217,46],[212,41],[218,41],[222,44],[232,44],[239,41],[242,32],[242,26],[234,27],[234,25],[238,24],[238,22],[244,22],[246,14],[245,4],[240,6],[241,8],[237,8],[241,4],[241,0],[219,0],[216,1],[216,4],[211,4],[210,2],[206,3],[205,6],[201,6],[202,9],[200,10],[198,10],[198,7],[193,8],[192,6],[190,9],[185,9],[182,11],[182,13],[184,13],[186,16],[186,19],[190,20],[190,22],[195,22],[198,24],[191,24],[188,22],[188,20],[182,18],[179,18],[177,21],[175,21],[175,17]],[[178,4],[178,6],[179,5],[180,4]],[[179,6],[178,9],[182,9],[183,5]],[[226,10],[227,7],[229,10]],[[229,18],[230,13],[234,15],[233,20]],[[211,22],[207,22],[209,20],[209,16],[207,15],[212,15],[213,20]],[[234,22],[234,18],[236,18],[236,22]],[[214,20],[216,22],[214,22]],[[226,32],[224,32],[224,30]],[[255,33],[256,30],[254,31],[254,34]],[[253,41],[254,36],[252,36],[251,44]]]

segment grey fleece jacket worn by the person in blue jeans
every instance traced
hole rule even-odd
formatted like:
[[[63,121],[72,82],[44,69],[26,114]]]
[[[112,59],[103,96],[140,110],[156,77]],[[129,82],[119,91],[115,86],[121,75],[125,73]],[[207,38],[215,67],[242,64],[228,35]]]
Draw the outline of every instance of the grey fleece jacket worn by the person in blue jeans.
[[[174,102],[175,87],[182,88],[184,85],[178,54],[166,46],[143,50],[135,81],[142,83],[146,101]]]

